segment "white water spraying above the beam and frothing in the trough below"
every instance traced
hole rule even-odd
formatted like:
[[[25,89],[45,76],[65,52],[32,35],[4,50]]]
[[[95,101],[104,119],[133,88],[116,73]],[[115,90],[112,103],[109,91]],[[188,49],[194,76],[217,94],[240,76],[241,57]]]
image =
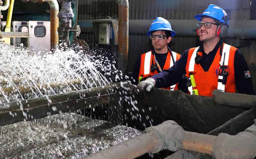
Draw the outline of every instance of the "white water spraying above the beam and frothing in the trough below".
[[[102,54],[100,49],[83,52],[79,48],[65,50],[58,48],[54,54],[52,52],[33,54],[24,47],[13,47],[0,43],[0,92],[2,94],[0,102],[17,101],[18,103],[24,99],[48,97],[127,80],[129,77],[123,76],[122,72],[116,69],[115,61],[104,53]],[[132,110],[138,110],[135,96],[129,95],[130,89],[123,85],[121,87],[122,91],[119,94],[123,98],[120,97],[119,101],[117,100],[118,104],[113,109],[121,107],[121,101],[124,100],[133,105]],[[113,93],[114,89],[109,92]],[[98,96],[100,96],[100,92]],[[51,103],[50,98],[48,98],[48,102]],[[56,107],[52,109],[58,111]],[[20,110],[23,110],[21,102]],[[131,115],[133,115],[132,110]],[[24,116],[27,116],[27,113],[24,111],[23,113]],[[16,116],[12,112],[10,115],[14,118]],[[65,117],[63,118],[63,116]],[[136,114],[133,117],[139,116]],[[73,119],[76,119],[75,123],[67,123]],[[94,127],[97,127],[98,121],[88,124],[86,122],[88,120],[84,116],[60,112],[57,118],[48,116],[40,120],[0,126],[0,139],[3,141],[0,142],[0,145],[6,145],[1,146],[2,156],[0,156],[5,158],[80,158],[140,134],[140,131],[135,131],[132,128],[111,125],[110,127],[113,128],[106,130],[111,135],[105,137],[104,133],[101,133],[95,136]],[[58,126],[54,126],[53,123],[56,122],[59,123]],[[76,126],[74,127],[74,125]],[[83,134],[84,130],[77,131],[84,126],[89,129],[85,131],[86,134]],[[35,133],[37,131],[38,133]],[[120,135],[117,136],[117,134]],[[92,140],[94,138],[97,140]],[[85,141],[89,143],[85,144]],[[27,147],[26,150],[25,147]],[[11,151],[8,152],[8,149]]]

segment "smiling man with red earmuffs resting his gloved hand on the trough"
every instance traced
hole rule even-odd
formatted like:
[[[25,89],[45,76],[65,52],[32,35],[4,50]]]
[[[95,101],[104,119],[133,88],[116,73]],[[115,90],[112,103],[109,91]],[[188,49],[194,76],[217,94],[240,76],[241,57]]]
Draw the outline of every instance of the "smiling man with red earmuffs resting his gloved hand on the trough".
[[[173,67],[138,84],[150,91],[153,87],[168,87],[187,80],[190,94],[212,96],[212,91],[254,94],[250,71],[241,51],[222,41],[227,35],[227,13],[209,5],[196,15],[198,47],[184,51]]]

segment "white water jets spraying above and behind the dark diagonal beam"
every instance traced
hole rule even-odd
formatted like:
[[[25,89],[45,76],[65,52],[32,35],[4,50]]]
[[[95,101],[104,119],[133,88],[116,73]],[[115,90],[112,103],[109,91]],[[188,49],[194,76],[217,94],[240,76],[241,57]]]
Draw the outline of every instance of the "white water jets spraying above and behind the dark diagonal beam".
[[[32,54],[23,47],[1,44],[0,56],[2,103],[108,85],[111,80],[105,75],[118,72],[110,60],[95,60],[83,50],[58,48],[54,54]]]

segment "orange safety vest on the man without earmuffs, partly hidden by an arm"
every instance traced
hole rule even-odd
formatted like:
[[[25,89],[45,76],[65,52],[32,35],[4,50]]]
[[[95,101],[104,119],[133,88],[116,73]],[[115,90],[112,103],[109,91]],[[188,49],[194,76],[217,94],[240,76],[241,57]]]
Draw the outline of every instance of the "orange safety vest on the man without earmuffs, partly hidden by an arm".
[[[180,59],[180,55],[177,54],[176,52],[172,51],[172,55],[174,57],[175,62]],[[154,72],[151,72],[151,65],[152,65],[153,57],[154,56],[152,54],[152,51],[148,51],[141,55],[140,72],[139,72],[138,80],[139,80],[140,76],[145,78],[145,77],[151,77],[154,74],[158,74],[157,70],[155,70]],[[153,63],[156,65],[155,58],[153,59]],[[173,63],[172,56],[170,55],[170,51],[168,51],[163,70],[168,69],[168,68],[172,67],[173,65],[174,65],[174,63]],[[167,88],[163,88],[163,89],[177,90],[178,84],[167,87]]]

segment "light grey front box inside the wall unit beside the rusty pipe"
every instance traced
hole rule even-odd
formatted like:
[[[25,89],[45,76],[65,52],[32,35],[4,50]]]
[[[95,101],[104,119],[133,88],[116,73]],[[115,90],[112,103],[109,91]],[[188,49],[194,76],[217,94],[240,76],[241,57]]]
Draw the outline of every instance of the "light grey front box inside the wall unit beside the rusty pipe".
[[[110,24],[99,24],[99,44],[110,44]]]

